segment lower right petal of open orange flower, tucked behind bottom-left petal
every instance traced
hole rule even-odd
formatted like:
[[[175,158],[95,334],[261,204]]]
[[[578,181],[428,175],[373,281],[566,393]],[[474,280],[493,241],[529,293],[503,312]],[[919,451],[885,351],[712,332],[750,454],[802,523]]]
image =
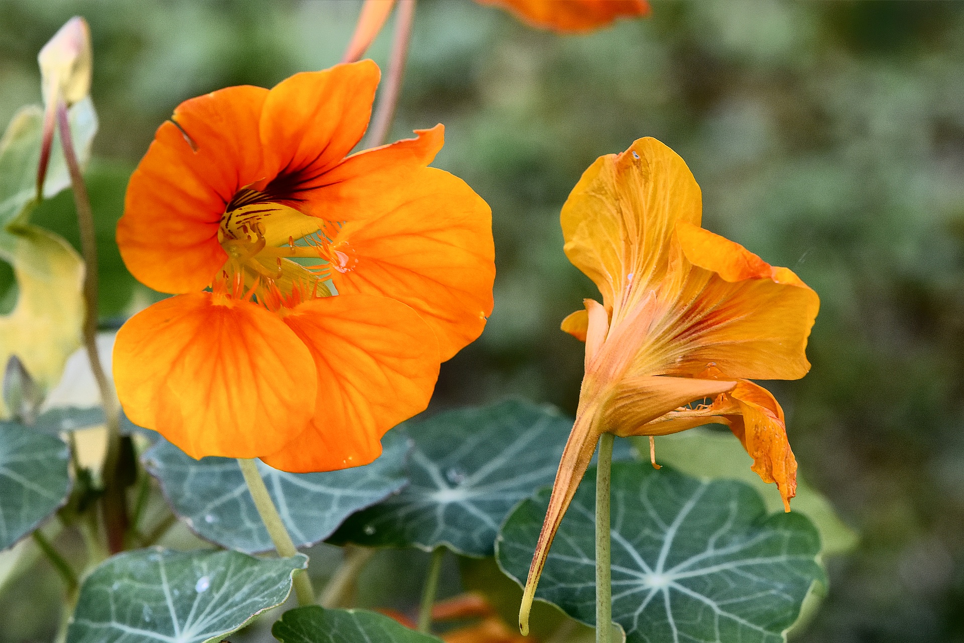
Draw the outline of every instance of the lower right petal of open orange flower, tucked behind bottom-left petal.
[[[318,378],[308,429],[265,463],[293,472],[346,469],[382,452],[386,431],[428,405],[439,377],[432,330],[385,297],[338,295],[294,308],[284,323],[308,346]]]

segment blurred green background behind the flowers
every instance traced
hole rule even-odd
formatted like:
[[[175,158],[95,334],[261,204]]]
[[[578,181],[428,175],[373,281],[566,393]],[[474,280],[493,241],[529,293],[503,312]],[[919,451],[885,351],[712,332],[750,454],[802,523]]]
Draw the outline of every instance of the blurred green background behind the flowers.
[[[151,297],[111,244],[154,129],[185,98],[335,64],[360,6],[0,2],[0,123],[40,101],[43,43],[75,13],[91,24],[105,318]],[[392,138],[443,122],[435,165],[495,227],[495,312],[443,365],[435,408],[522,395],[575,411],[581,345],[558,324],[596,293],[562,253],[559,208],[596,157],[654,136],[696,175],[707,228],[821,297],[812,372],[772,389],[801,472],[861,542],[830,561],[797,640],[964,641],[964,4],[657,1],[651,19],[560,37],[421,0],[409,61]],[[58,199],[34,221],[76,245]]]

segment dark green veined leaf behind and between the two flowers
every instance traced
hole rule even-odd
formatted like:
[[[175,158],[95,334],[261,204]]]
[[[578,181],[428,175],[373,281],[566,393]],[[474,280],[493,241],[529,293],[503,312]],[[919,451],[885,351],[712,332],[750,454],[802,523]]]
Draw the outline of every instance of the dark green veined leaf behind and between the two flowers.
[[[447,546],[468,556],[491,556],[506,514],[548,485],[573,420],[519,400],[448,411],[403,425],[415,446],[411,483],[400,494],[348,519],[332,542],[367,547]],[[632,457],[617,441],[615,459]]]

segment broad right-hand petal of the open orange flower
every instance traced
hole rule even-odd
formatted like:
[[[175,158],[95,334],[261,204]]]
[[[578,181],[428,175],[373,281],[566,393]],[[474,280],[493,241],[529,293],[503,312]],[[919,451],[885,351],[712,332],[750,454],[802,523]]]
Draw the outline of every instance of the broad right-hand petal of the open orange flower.
[[[445,361],[481,335],[492,313],[492,211],[465,181],[435,168],[393,194],[396,204],[386,214],[338,232],[335,287],[414,308]]]

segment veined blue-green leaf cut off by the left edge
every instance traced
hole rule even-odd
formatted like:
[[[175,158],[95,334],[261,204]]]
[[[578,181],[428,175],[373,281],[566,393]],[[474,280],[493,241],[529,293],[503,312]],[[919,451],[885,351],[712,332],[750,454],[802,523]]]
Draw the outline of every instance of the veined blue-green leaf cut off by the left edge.
[[[70,454],[57,436],[0,423],[0,549],[36,529],[70,493]]]

